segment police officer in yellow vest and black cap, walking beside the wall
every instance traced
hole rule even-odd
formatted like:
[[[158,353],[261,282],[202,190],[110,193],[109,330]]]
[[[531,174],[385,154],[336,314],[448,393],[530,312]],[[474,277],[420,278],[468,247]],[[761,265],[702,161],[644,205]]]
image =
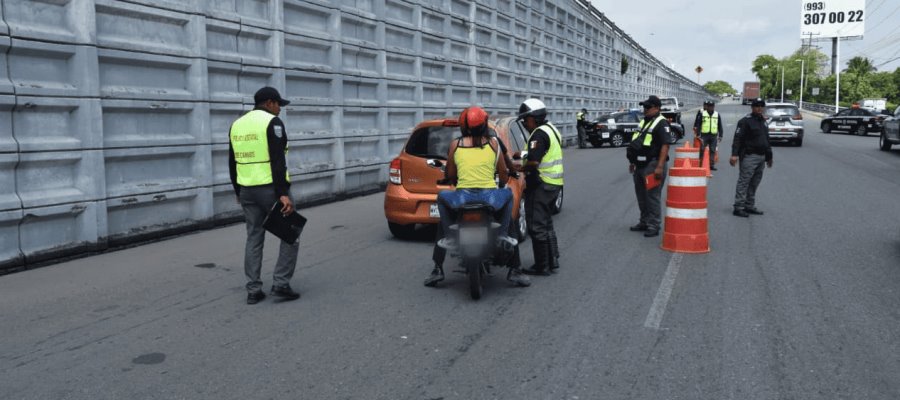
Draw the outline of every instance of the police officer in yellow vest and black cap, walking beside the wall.
[[[228,167],[231,184],[247,222],[244,273],[247,276],[247,304],[256,304],[262,292],[260,269],[266,231],[263,221],[275,203],[281,212],[294,211],[291,181],[287,171],[288,140],[284,123],[278,118],[281,107],[290,102],[275,88],[264,87],[253,96],[256,107],[231,125]],[[271,294],[283,300],[296,300],[300,294],[290,281],[297,266],[298,243],[281,242],[275,263]]]

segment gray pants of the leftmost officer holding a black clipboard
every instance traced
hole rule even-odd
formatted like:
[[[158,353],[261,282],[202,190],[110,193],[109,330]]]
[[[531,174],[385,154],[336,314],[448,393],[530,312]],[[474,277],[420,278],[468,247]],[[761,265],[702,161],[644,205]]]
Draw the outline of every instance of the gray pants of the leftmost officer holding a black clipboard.
[[[247,275],[247,291],[254,293],[262,288],[259,279],[262,268],[263,242],[266,238],[266,230],[262,227],[263,221],[272,205],[278,201],[275,189],[272,185],[241,187],[241,208],[244,209],[244,217],[247,221],[247,247],[244,249],[244,273]],[[275,262],[275,273],[272,277],[274,286],[288,286],[291,277],[294,276],[294,268],[297,266],[297,252],[300,244],[281,241],[278,250],[278,261]]]

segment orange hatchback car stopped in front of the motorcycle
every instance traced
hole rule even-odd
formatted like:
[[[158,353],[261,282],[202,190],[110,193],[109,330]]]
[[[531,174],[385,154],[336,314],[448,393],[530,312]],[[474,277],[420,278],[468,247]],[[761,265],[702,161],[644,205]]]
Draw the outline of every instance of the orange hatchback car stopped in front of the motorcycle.
[[[489,121],[493,133],[513,154],[525,150],[525,132],[514,117]],[[453,190],[438,185],[444,178],[450,142],[460,136],[456,119],[436,119],[416,125],[400,155],[390,165],[390,182],[384,193],[384,215],[391,233],[401,239],[416,236],[416,225],[436,225],[440,222],[437,194]],[[518,162],[518,161],[514,161]],[[513,192],[512,225],[518,230],[519,241],[527,237],[525,225],[525,175],[509,178],[507,186]]]

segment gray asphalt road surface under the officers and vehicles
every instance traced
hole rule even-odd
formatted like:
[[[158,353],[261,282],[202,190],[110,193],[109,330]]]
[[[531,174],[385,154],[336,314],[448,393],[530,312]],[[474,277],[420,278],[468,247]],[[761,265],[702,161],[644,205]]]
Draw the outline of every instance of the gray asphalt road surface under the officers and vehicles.
[[[244,303],[240,225],[0,277],[0,398],[900,398],[900,151],[807,116],[733,217],[748,109],[719,107],[709,254],[628,231],[623,149],[568,148],[562,269],[530,288],[422,286],[430,243],[359,197],[302,210],[296,302]]]

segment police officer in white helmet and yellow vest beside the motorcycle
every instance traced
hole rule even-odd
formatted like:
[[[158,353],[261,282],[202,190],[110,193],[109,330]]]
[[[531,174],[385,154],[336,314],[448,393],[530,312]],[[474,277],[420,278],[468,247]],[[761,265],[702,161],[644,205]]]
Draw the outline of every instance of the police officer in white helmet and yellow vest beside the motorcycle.
[[[524,269],[529,275],[550,275],[559,268],[559,244],[553,229],[551,205],[563,186],[562,135],[547,121],[547,107],[538,99],[519,106],[519,120],[528,137],[525,175],[525,219],[534,265]]]

